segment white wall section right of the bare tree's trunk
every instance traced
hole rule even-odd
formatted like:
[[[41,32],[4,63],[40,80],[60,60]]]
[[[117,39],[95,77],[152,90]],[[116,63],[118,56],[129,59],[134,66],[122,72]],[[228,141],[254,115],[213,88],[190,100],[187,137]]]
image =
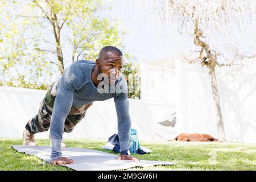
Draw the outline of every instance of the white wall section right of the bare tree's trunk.
[[[217,69],[226,139],[256,143],[256,62]]]

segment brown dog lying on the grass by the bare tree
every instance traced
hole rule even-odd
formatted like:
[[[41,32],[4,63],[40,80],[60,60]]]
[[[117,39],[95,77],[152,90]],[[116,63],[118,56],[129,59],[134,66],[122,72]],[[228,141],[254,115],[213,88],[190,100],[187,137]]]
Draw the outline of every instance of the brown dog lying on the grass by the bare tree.
[[[213,138],[210,135],[207,134],[197,134],[197,133],[192,133],[192,134],[188,134],[188,133],[181,133],[179,135],[177,135],[177,137],[175,137],[174,140],[178,140],[178,141],[183,141],[183,142],[217,142],[218,139]],[[174,140],[168,140],[168,141],[174,141]]]

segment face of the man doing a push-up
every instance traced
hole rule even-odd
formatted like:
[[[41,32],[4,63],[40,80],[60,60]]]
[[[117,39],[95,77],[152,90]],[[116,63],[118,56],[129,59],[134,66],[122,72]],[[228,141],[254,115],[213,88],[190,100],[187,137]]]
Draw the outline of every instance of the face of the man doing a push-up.
[[[99,57],[99,73],[108,75],[108,84],[112,85],[122,72],[123,57],[107,52],[105,56]],[[106,80],[105,80],[106,81]]]

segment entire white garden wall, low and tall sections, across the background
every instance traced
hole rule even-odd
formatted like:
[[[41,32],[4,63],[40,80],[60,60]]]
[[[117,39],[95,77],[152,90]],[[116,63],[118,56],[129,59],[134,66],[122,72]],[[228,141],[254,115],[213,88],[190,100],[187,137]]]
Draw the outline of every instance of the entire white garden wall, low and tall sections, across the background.
[[[132,127],[141,140],[172,139],[179,133],[217,137],[216,111],[206,68],[176,62],[172,69],[142,67],[142,98],[130,101]],[[152,67],[151,67],[152,68]],[[170,72],[169,72],[170,71]],[[256,143],[256,63],[216,68],[226,139]],[[155,85],[155,86],[152,86]],[[22,138],[46,91],[0,86],[0,138]],[[160,125],[176,111],[174,128]],[[114,101],[94,102],[85,118],[64,138],[103,138],[117,133]],[[48,138],[48,132],[36,134]]]

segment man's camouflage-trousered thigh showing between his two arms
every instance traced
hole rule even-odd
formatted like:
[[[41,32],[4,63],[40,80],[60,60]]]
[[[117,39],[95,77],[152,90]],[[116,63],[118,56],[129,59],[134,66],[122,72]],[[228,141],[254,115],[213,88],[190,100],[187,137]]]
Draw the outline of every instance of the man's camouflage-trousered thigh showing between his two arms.
[[[69,112],[64,123],[64,132],[71,133],[77,123],[79,123],[85,117],[86,110],[90,106],[92,106],[92,103],[84,106],[72,106],[71,111]]]

